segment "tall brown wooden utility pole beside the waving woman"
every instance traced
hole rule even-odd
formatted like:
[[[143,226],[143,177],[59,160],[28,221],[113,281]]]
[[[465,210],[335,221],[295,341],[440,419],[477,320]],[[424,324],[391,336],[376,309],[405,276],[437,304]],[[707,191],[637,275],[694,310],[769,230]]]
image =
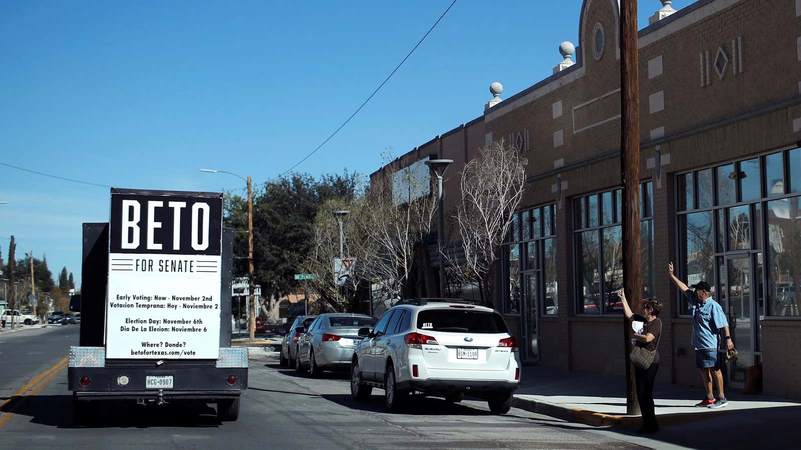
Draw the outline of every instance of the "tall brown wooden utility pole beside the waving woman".
[[[620,84],[621,84],[621,155],[623,287],[634,312],[642,303],[640,267],[640,87],[637,48],[637,0],[620,2]],[[640,413],[634,365],[631,364],[632,329],[623,318],[626,340],[626,413]]]

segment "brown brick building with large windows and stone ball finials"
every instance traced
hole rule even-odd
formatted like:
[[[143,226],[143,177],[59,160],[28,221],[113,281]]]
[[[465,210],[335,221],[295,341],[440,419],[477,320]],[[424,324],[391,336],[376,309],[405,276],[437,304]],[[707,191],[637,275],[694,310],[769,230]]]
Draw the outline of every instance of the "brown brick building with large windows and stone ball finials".
[[[585,0],[577,14],[575,62],[563,44],[552,76],[400,160],[453,159],[455,199],[480,147],[519,148],[529,184],[495,303],[525,360],[621,375],[618,2]],[[727,383],[762,364],[766,393],[801,397],[801,0],[700,0],[650,22],[638,38],[641,234],[643,296],[663,304],[658,379],[700,381],[673,261],[729,313],[740,358]]]

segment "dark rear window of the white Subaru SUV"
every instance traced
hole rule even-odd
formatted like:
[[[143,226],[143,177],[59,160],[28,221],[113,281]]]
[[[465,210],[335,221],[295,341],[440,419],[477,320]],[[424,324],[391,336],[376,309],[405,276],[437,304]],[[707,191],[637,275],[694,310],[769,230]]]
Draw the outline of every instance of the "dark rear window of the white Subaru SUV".
[[[455,333],[508,333],[501,315],[463,309],[428,309],[417,314],[417,328]]]

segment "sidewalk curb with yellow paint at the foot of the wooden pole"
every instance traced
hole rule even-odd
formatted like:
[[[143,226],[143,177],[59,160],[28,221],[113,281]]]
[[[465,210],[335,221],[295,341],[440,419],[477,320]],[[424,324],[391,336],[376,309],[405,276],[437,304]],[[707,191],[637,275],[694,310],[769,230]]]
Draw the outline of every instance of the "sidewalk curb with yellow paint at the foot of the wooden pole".
[[[565,420],[577,424],[590,425],[591,427],[642,427],[642,417],[640,416],[614,416],[602,412],[594,412],[582,408],[570,408],[562,404],[549,403],[542,400],[533,400],[514,396],[513,408],[523,409],[535,414],[542,414],[556,419]],[[714,417],[727,416],[731,411],[721,411],[715,414],[704,414],[701,412],[682,412],[678,414],[657,416],[660,425],[680,425],[708,420]]]

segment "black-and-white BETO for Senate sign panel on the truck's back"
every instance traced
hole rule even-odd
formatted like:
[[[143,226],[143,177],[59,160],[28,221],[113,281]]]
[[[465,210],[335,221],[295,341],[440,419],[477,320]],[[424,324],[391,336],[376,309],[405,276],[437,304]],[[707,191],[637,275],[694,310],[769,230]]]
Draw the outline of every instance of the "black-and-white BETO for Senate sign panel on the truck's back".
[[[222,195],[111,190],[107,359],[219,357]]]

